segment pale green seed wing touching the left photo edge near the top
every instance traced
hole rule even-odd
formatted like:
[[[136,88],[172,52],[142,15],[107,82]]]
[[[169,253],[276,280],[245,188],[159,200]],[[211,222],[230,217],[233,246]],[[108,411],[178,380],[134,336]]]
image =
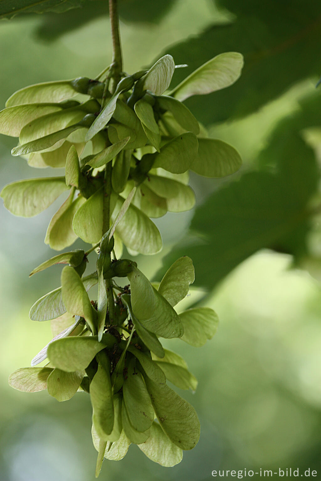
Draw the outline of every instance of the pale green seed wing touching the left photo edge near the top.
[[[28,122],[52,112],[59,112],[62,108],[58,103],[32,103],[3,109],[0,112],[0,134],[19,137],[21,129]]]

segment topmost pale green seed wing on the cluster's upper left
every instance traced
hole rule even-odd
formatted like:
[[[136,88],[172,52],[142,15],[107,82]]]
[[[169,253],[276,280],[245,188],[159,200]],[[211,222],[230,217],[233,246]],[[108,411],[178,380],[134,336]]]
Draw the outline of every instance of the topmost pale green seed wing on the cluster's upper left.
[[[72,86],[72,80],[58,80],[55,82],[43,82],[29,85],[24,89],[17,90],[6,101],[6,107],[23,103],[47,103],[60,102],[76,95]]]

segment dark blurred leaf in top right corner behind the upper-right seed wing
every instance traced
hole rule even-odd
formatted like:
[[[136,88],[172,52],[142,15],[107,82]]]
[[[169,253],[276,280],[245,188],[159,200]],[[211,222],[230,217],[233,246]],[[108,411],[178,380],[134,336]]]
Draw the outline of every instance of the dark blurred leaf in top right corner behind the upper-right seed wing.
[[[237,18],[230,24],[211,25],[199,36],[166,50],[176,63],[188,64],[186,69],[175,71],[173,87],[213,54],[240,51],[244,55],[244,69],[234,85],[186,101],[200,122],[208,125],[243,117],[279,97],[296,82],[320,77],[321,25],[315,16],[314,0],[295,0],[291,6],[276,0],[218,3],[236,13]]]

